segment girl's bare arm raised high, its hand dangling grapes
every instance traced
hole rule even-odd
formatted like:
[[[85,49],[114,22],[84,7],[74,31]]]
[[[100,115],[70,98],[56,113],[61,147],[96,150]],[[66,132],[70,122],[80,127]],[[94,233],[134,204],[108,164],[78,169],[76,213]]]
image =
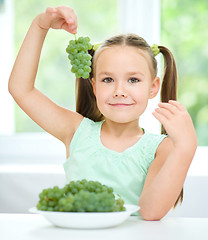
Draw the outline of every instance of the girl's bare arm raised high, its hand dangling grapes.
[[[12,70],[9,92],[40,127],[67,144],[82,116],[56,105],[34,86],[43,42],[50,28],[76,33],[73,9],[47,8],[33,20]]]

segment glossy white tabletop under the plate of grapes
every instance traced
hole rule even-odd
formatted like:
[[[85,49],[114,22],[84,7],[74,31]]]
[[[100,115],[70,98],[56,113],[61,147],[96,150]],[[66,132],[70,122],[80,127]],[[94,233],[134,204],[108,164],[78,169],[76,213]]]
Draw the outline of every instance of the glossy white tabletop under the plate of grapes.
[[[113,228],[58,228],[38,214],[0,214],[1,240],[207,240],[208,218],[171,218],[144,221],[131,216]]]

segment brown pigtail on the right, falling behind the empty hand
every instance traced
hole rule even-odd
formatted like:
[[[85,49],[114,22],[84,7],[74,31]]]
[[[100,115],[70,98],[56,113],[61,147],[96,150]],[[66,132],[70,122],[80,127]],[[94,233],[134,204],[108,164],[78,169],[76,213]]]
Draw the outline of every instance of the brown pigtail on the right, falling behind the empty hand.
[[[163,46],[159,46],[160,52],[164,57],[164,74],[161,88],[161,101],[168,102],[169,100],[177,100],[177,69],[174,57],[169,49]],[[161,128],[161,133],[166,134],[164,127]],[[176,200],[173,208],[177,206],[179,202],[183,201],[183,188],[180,192],[178,199]]]

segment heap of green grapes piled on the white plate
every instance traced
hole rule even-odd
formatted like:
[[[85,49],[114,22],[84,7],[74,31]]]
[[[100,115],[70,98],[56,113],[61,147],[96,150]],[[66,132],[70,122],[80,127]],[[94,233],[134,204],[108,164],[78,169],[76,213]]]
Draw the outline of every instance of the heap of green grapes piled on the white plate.
[[[44,189],[39,194],[37,208],[60,212],[124,211],[124,201],[115,199],[113,189],[97,181],[71,181],[64,188]]]

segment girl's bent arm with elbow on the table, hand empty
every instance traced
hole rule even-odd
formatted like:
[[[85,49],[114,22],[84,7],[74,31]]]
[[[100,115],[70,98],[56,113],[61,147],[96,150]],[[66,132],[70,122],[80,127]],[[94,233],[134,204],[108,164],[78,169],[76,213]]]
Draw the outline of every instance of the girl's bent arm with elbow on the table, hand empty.
[[[197,148],[193,123],[183,105],[160,103],[154,116],[169,137],[158,147],[140,196],[140,214],[145,220],[160,220],[173,207]]]

